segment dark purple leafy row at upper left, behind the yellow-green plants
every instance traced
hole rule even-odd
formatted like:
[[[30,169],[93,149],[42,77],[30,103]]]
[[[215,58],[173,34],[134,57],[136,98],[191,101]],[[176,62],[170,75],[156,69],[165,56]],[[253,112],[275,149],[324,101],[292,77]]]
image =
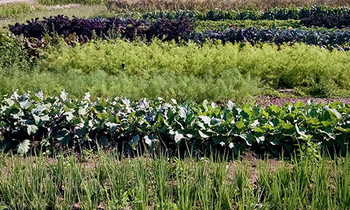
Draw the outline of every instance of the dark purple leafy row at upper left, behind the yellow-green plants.
[[[45,34],[59,35],[68,37],[76,34],[83,41],[90,41],[93,36],[102,38],[108,37],[115,32],[120,34],[121,38],[134,39],[141,36],[151,40],[152,38],[162,38],[166,40],[186,39],[188,34],[193,31],[193,23],[185,18],[179,20],[160,19],[156,22],[146,20],[135,20],[129,18],[126,20],[120,18],[106,19],[80,19],[70,20],[64,15],[44,18],[44,20],[27,21],[27,24],[16,23],[10,25],[10,31],[15,35],[25,37],[41,38]]]

